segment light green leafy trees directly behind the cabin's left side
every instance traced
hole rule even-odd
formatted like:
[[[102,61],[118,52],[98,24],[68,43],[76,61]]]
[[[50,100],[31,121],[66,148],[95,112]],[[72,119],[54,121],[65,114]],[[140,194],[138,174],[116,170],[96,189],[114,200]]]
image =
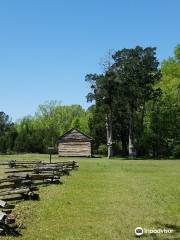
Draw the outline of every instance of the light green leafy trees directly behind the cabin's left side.
[[[41,104],[35,116],[24,117],[17,125],[15,141],[17,152],[47,152],[48,146],[56,146],[58,137],[72,127],[89,133],[89,112],[79,105],[62,106],[56,101]]]

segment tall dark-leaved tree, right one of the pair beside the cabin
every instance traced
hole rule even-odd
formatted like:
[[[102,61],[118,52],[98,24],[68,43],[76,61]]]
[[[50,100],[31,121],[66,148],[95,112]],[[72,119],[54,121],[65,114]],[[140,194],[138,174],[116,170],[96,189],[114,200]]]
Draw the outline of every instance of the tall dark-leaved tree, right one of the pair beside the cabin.
[[[135,115],[142,114],[142,128],[145,103],[159,95],[154,85],[161,78],[156,59],[156,48],[135,47],[122,49],[113,55],[113,72],[127,103],[129,116],[129,156],[136,155]]]

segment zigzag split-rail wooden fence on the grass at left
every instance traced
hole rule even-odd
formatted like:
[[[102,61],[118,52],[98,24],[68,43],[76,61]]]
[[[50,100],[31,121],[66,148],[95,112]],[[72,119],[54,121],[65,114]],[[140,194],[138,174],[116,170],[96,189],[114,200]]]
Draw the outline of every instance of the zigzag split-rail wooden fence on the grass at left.
[[[20,235],[12,215],[15,200],[38,200],[38,186],[62,183],[61,177],[79,166],[76,161],[47,163],[43,161],[4,161],[7,175],[0,179],[0,235]]]

